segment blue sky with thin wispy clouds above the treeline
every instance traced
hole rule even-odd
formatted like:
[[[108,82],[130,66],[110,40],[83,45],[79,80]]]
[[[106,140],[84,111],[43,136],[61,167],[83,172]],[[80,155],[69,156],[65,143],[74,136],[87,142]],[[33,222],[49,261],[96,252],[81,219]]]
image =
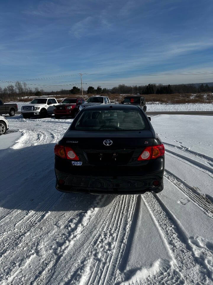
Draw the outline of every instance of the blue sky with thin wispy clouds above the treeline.
[[[79,72],[103,88],[213,82],[212,27],[212,0],[1,1],[0,80],[46,91],[80,86]]]

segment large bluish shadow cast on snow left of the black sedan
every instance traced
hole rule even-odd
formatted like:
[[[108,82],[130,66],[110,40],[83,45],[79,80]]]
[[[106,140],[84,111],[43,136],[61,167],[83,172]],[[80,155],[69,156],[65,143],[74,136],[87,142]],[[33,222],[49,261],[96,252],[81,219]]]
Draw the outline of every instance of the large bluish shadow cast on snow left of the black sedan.
[[[62,193],[55,189],[54,143],[25,148],[0,150],[3,178],[0,187],[0,207],[34,211],[86,211],[104,207],[115,196]],[[102,197],[105,195],[101,195]]]

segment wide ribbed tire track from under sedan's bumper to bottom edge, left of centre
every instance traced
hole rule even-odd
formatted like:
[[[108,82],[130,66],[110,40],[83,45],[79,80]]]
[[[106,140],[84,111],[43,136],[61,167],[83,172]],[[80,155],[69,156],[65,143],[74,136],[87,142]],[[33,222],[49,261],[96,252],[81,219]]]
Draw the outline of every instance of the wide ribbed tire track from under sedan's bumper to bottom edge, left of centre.
[[[80,280],[88,285],[114,284],[134,213],[136,195],[118,196],[114,201],[119,203],[110,209],[106,224],[99,228],[89,252],[85,252],[85,258],[83,261],[80,259],[80,266],[65,279],[65,284],[81,284]]]

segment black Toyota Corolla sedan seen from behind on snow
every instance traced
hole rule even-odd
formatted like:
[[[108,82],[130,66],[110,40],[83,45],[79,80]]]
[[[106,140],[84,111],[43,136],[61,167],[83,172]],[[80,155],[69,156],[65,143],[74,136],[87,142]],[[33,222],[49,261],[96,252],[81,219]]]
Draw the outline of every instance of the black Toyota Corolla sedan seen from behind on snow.
[[[139,106],[85,107],[54,153],[59,191],[143,194],[163,190],[164,145]]]

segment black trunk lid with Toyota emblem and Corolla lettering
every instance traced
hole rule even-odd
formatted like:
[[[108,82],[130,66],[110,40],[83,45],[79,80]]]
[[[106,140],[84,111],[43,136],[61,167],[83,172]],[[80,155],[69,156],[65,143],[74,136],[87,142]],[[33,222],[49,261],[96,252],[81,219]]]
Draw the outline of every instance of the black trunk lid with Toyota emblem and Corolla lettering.
[[[90,165],[126,165],[137,162],[142,151],[153,145],[153,135],[150,130],[69,131],[61,144],[71,147]]]

